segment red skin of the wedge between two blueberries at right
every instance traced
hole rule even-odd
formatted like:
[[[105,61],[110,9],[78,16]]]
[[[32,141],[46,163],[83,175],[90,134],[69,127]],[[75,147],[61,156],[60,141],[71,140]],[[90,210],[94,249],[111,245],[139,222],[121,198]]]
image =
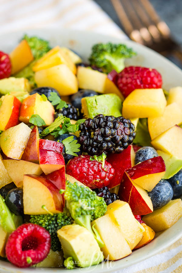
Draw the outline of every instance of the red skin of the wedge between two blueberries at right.
[[[145,160],[126,171],[128,176],[135,179],[148,174],[162,173],[166,171],[166,165],[162,157],[153,157]]]

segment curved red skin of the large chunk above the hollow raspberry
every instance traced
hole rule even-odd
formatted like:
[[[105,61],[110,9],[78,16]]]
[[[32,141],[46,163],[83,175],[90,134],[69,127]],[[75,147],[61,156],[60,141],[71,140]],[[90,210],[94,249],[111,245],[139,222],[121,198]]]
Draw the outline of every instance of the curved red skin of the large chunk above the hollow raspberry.
[[[54,200],[56,210],[63,211],[62,196],[59,193],[59,189],[51,181],[49,181],[45,177],[42,177],[36,174],[26,174],[26,176],[33,177],[34,179],[38,180],[43,185],[45,185],[49,189],[50,193],[52,194],[52,198]]]

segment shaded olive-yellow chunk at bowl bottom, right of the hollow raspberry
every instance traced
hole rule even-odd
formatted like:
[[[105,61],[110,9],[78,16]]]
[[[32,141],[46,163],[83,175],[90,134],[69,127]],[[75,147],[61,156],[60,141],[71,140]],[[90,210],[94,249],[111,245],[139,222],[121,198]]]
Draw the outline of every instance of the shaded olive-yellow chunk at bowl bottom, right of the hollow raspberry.
[[[53,251],[52,249],[49,251],[47,257],[41,261],[40,263],[34,265],[35,267],[63,267],[63,252],[61,251]]]

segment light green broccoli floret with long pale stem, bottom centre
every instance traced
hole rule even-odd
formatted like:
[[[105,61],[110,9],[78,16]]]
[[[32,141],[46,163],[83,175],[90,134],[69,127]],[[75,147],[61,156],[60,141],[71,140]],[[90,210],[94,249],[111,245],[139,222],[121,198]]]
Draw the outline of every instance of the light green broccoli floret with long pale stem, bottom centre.
[[[99,246],[103,247],[103,241],[99,233],[92,229],[90,221],[103,216],[106,212],[107,205],[104,198],[98,197],[96,192],[88,187],[78,186],[76,182],[66,184],[64,198],[75,223],[86,227],[94,235]]]

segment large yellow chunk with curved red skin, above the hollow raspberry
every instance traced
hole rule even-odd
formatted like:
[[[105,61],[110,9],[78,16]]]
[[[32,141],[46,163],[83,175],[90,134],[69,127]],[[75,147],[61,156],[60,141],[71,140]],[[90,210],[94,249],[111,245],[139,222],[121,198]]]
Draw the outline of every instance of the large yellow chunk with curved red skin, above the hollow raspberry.
[[[24,175],[23,179],[23,206],[25,214],[47,214],[63,211],[62,196],[59,189],[48,179],[35,175]]]

